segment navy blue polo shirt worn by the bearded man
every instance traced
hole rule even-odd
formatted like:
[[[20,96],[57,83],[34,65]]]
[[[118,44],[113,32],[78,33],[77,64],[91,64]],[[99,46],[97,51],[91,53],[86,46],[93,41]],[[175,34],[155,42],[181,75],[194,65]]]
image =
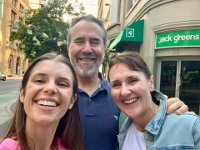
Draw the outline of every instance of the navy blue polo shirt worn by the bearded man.
[[[79,109],[87,150],[114,150],[118,134],[119,109],[111,87],[101,74],[101,86],[89,96],[79,90]]]

